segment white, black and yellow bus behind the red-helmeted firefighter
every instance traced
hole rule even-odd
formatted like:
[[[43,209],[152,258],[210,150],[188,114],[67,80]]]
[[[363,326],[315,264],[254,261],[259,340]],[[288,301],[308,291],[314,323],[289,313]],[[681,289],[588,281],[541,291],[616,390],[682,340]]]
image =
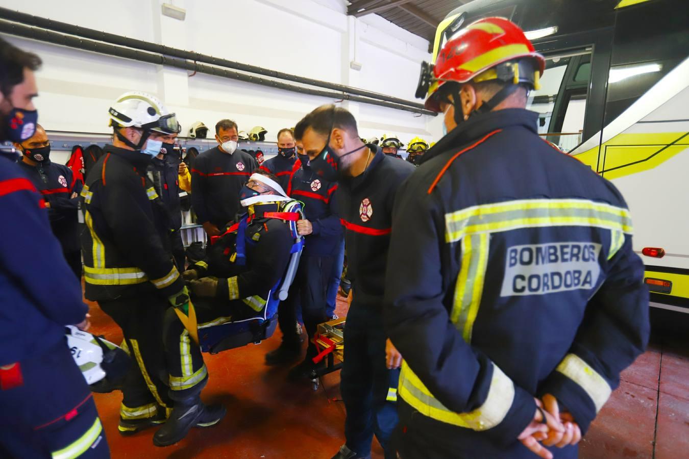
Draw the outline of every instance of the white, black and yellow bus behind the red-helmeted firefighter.
[[[528,109],[539,135],[617,186],[651,306],[689,314],[686,0],[473,0],[438,25],[433,60],[484,17],[520,25],[546,58]]]

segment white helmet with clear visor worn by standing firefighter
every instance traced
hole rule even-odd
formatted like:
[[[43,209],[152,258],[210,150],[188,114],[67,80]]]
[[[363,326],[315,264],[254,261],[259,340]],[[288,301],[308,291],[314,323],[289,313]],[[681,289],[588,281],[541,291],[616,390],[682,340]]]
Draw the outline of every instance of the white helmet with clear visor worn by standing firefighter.
[[[114,127],[140,127],[146,131],[175,134],[181,131],[174,113],[155,96],[145,92],[125,92],[107,111],[110,125]]]

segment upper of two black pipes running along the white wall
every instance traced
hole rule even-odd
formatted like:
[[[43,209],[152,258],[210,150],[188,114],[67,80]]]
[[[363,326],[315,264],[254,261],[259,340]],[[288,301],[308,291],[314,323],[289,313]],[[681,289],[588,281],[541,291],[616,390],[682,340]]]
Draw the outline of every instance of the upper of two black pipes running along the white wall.
[[[26,14],[15,10],[10,10],[8,8],[0,8],[0,18],[23,23],[26,25],[33,25],[39,28],[52,30],[54,32],[62,32],[65,34],[81,36],[85,39],[103,41],[104,43],[110,43],[111,45],[126,46],[134,48],[136,50],[153,52],[157,54],[165,54],[166,56],[186,59],[188,61],[202,62],[217,65],[219,67],[227,67],[234,70],[241,70],[243,72],[249,72],[252,74],[259,74],[263,76],[270,76],[272,78],[279,78],[281,80],[294,81],[295,83],[302,83],[305,85],[322,87],[325,89],[333,89],[335,91],[344,92],[346,94],[355,94],[356,96],[364,96],[371,99],[383,100],[387,103],[395,103],[398,105],[404,105],[407,107],[414,108],[416,110],[413,111],[417,113],[423,113],[426,115],[433,113],[425,110],[424,106],[420,103],[414,103],[402,98],[367,91],[365,89],[360,89],[358,87],[340,85],[338,83],[329,83],[327,81],[315,80],[313,78],[306,78],[304,76],[297,76],[293,74],[287,74],[285,72],[278,72],[276,70],[269,70],[263,67],[257,67],[256,65],[249,65],[235,61],[229,61],[227,59],[216,58],[213,56],[208,56],[206,54],[178,50],[174,47],[158,45],[157,43],[149,43],[143,40],[130,39],[126,36],[121,36],[117,34],[99,32],[98,30],[84,28],[79,25],[72,25],[60,21],[53,21],[52,19],[45,19],[42,17],[33,16],[32,14]],[[354,100],[353,98],[348,99]]]

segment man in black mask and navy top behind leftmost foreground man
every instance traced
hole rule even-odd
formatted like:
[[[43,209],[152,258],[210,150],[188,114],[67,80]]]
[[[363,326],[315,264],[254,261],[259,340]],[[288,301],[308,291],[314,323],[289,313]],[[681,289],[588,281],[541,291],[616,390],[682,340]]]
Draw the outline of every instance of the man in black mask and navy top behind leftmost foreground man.
[[[52,233],[62,246],[62,254],[81,281],[81,250],[79,248],[79,193],[83,184],[74,181],[69,167],[50,161],[48,134],[41,125],[23,142],[14,142],[21,151],[17,162],[45,200]]]

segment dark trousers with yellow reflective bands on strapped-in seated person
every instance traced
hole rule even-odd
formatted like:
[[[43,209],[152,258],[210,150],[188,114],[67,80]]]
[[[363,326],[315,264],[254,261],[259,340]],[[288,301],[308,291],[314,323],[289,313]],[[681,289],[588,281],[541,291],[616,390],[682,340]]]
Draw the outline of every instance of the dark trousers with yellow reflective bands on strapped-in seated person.
[[[256,297],[254,297],[256,299]],[[263,300],[256,300],[263,301]],[[223,301],[214,298],[192,298],[198,334],[203,329],[258,314],[242,299]],[[189,337],[189,332],[177,317],[173,308],[165,313],[165,359],[169,372],[169,394],[174,400],[198,394],[205,386],[208,371],[203,363],[200,346]]]

